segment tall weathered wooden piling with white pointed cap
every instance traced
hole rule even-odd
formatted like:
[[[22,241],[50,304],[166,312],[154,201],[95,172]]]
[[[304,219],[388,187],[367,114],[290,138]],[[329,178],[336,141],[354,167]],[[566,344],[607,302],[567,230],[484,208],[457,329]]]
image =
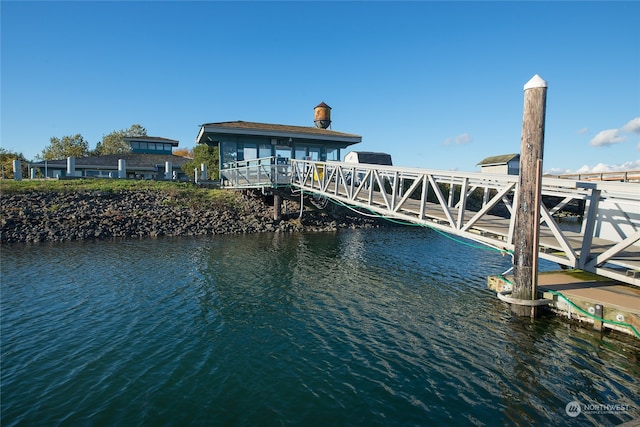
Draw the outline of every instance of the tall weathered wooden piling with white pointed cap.
[[[520,182],[514,233],[514,282],[511,296],[535,300],[538,285],[538,241],[540,231],[540,186],[544,148],[547,82],[537,74],[524,85],[524,112],[520,144]],[[535,316],[533,306],[512,304],[519,316]]]

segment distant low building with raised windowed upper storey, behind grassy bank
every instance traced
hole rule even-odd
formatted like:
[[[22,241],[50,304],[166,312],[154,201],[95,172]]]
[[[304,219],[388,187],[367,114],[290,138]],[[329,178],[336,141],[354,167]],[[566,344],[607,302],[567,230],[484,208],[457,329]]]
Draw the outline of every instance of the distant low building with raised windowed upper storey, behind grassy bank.
[[[166,179],[166,167],[171,168],[171,178],[185,179],[182,165],[190,159],[172,154],[179,142],[173,139],[136,136],[124,138],[131,146],[129,153],[88,156],[75,159],[48,160],[31,163],[38,177],[58,178],[67,176]],[[124,170],[120,167],[124,166]]]

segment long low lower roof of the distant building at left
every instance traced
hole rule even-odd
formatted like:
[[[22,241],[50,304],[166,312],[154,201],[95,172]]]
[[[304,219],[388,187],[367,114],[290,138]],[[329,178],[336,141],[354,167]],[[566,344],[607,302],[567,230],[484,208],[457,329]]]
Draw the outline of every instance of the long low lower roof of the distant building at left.
[[[142,154],[142,153],[123,153],[123,154],[108,154],[106,156],[89,156],[78,157],[75,159],[76,169],[113,169],[118,170],[118,160],[125,160],[127,162],[127,169],[148,169],[152,170],[158,164],[164,164],[165,162],[171,162],[173,167],[181,167],[191,159],[181,156],[175,156],[173,154]],[[32,166],[44,167],[45,162],[31,163]],[[67,160],[47,160],[47,166],[66,167]]]

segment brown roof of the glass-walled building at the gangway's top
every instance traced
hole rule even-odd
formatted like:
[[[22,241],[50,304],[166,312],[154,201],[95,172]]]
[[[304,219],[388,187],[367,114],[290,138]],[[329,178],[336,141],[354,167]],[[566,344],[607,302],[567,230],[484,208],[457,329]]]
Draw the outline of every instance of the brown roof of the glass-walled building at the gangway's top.
[[[202,124],[200,125],[200,132],[196,138],[196,143],[206,143],[207,134],[236,134],[275,138],[316,139],[323,141],[335,141],[347,145],[362,142],[362,137],[360,135],[336,132],[334,130],[321,129],[313,126],[278,125],[270,123],[244,122],[242,120]],[[214,141],[212,140],[211,142]]]

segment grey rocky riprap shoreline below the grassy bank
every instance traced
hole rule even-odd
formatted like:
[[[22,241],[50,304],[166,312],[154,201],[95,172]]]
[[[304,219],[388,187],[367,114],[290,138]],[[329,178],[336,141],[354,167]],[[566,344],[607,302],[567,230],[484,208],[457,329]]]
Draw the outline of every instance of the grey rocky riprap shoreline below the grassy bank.
[[[238,194],[233,203],[199,205],[158,191],[26,192],[0,198],[0,242],[51,242],[160,236],[335,231],[388,224],[329,205],[316,209],[285,200],[281,220],[260,193]]]

